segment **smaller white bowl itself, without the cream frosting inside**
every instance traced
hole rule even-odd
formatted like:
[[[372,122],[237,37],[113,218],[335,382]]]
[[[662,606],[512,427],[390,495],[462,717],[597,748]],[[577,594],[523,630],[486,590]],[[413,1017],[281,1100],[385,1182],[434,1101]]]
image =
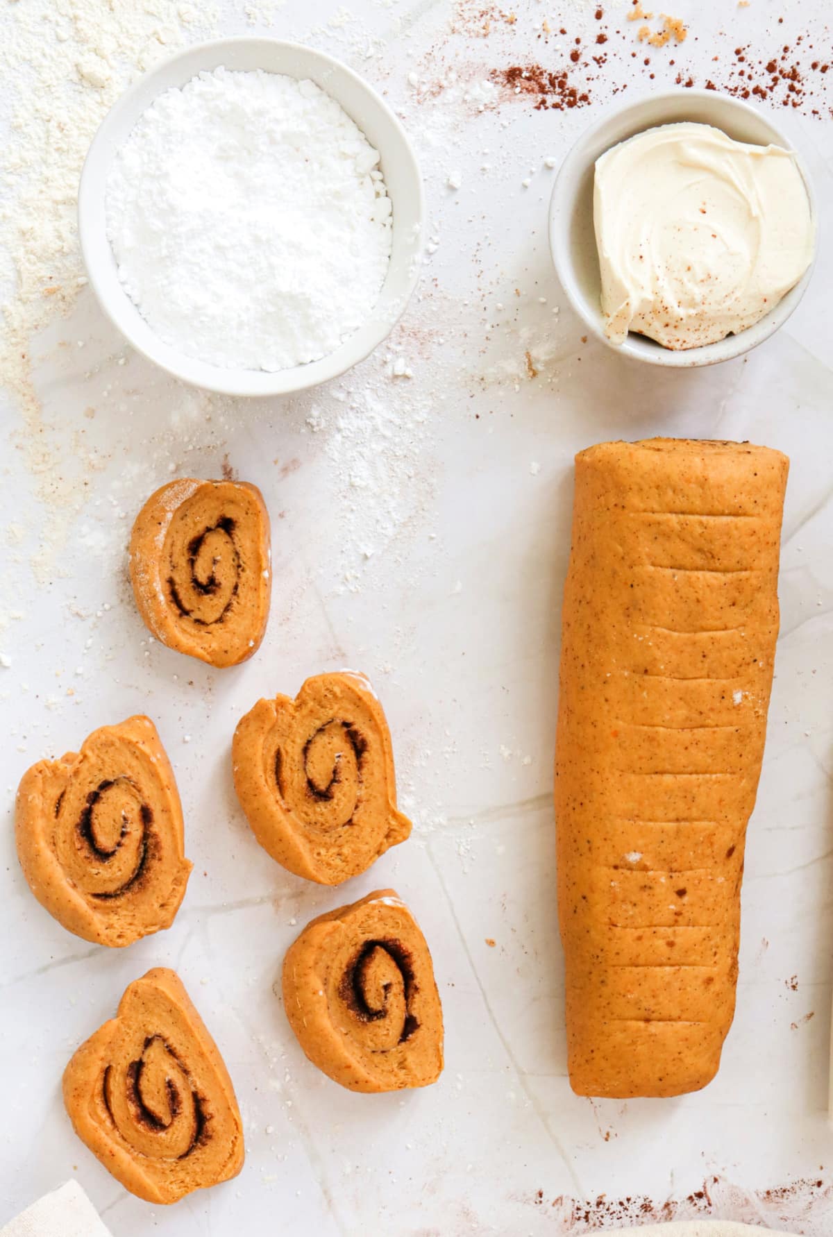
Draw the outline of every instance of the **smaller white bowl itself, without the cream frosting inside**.
[[[610,348],[649,365],[670,365],[678,369],[714,365],[756,348],[783,325],[809,283],[813,261],[798,283],[777,306],[746,330],[727,335],[717,344],[675,351],[656,340],[631,333],[623,344],[613,344],[604,332],[602,314],[602,276],[599,254],[593,230],[593,173],[597,158],[611,146],[655,125],[692,120],[722,129],[735,141],[791,148],[791,142],[755,108],[739,99],[714,90],[672,90],[649,95],[626,108],[602,116],[585,130],[561,165],[550,202],[550,250],[556,272],[569,303],[589,329]],[[816,198],[807,168],[796,155],[805,181],[809,212],[816,226]],[[818,236],[818,229],[816,229]]]

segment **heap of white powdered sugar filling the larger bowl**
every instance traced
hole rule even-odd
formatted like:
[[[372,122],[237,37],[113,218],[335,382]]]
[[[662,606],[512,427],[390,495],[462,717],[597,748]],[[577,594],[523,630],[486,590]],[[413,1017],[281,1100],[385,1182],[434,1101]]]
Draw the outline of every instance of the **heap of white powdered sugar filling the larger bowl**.
[[[118,152],[108,234],[151,328],[219,366],[333,353],[385,280],[379,152],[313,82],[201,73],[161,94]]]

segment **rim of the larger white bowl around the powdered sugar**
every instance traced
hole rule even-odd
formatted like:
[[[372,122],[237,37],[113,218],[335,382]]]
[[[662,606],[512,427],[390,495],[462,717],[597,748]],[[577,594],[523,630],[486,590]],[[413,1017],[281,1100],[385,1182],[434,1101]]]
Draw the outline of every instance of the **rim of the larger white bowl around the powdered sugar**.
[[[413,210],[416,215],[413,241],[410,251],[410,261],[407,262],[407,270],[402,272],[400,288],[396,296],[390,297],[390,304],[387,304],[385,310],[382,310],[382,315],[378,323],[378,329],[365,335],[364,330],[359,328],[358,332],[348,336],[348,339],[345,339],[333,353],[328,353],[317,361],[274,371],[244,370],[210,365],[208,361],[188,356],[184,353],[179,353],[176,348],[173,348],[173,345],[166,344],[165,340],[153,333],[152,328],[147,323],[146,325],[149,327],[150,334],[158,344],[158,351],[151,346],[150,343],[136,339],[135,332],[131,328],[131,318],[135,317],[135,314],[141,317],[139,308],[130,299],[126,291],[121,286],[121,282],[118,278],[118,272],[115,275],[115,282],[123,298],[121,304],[116,303],[118,298],[111,289],[101,287],[101,272],[99,270],[99,257],[97,255],[97,249],[100,246],[100,230],[95,226],[94,205],[99,199],[99,195],[106,192],[106,152],[111,139],[116,137],[124,127],[125,121],[123,120],[123,116],[125,111],[130,110],[131,104],[136,98],[147,92],[149,83],[153,82],[156,78],[167,75],[171,69],[176,68],[179,63],[188,61],[197,62],[204,56],[215,58],[218,54],[222,54],[225,48],[233,49],[244,45],[252,46],[255,49],[265,48],[266,53],[271,49],[278,49],[282,54],[292,56],[292,53],[302,53],[304,57],[312,57],[321,64],[322,74],[340,74],[343,79],[349,80],[354,88],[358,88],[358,90],[361,92],[369,100],[370,106],[378,109],[392,130],[392,140],[386,143],[386,147],[382,148],[381,145],[379,146],[381,156],[380,162],[384,168],[386,157],[389,162],[396,158],[402,167],[404,174],[412,181]],[[298,74],[292,74],[285,69],[270,69],[266,66],[260,67],[267,73],[277,72],[286,73],[287,77],[300,77]],[[204,71],[209,72],[207,68],[201,69],[199,66],[194,63],[192,75],[196,77],[198,73]],[[161,94],[166,89],[170,89],[170,87],[161,87],[157,94]],[[348,116],[350,116],[354,121],[356,127],[361,130],[361,125],[354,119],[349,108],[344,108],[337,94],[327,92],[323,87],[322,89],[324,89],[324,93],[329,93],[330,98],[335,99],[339,106],[342,106],[343,110],[347,111]],[[150,106],[150,103],[147,103],[142,110],[146,110],[147,106]],[[361,131],[364,132],[364,130]],[[387,184],[387,178],[385,178],[385,182]],[[361,74],[356,73],[355,69],[352,69],[337,57],[330,56],[327,52],[322,52],[316,47],[311,47],[307,43],[298,43],[283,38],[272,38],[267,35],[230,35],[228,37],[210,38],[203,40],[198,43],[191,43],[188,47],[183,47],[172,56],[167,56],[157,64],[153,64],[146,73],[142,73],[141,77],[129,85],[127,89],[124,90],[111,104],[89,143],[80,172],[77,210],[78,236],[84,268],[105,317],[126,339],[131,348],[134,348],[142,356],[147,357],[147,360],[152,361],[160,369],[165,370],[167,374],[182,382],[187,382],[205,391],[214,391],[219,395],[245,397],[293,395],[296,392],[319,386],[322,382],[328,382],[339,377],[342,374],[345,374],[347,370],[353,369],[354,365],[358,365],[366,356],[369,356],[370,353],[379,348],[379,345],[387,338],[390,332],[405,313],[422,270],[426,220],[425,184],[411,140],[392,108],[385,101],[375,87],[363,78]],[[391,236],[394,235],[395,229],[396,204],[394,203]],[[109,238],[106,238],[106,231],[104,235],[105,242],[109,246],[110,242]],[[385,285],[386,282],[387,276],[385,278]],[[376,309],[380,304],[385,303],[385,285],[382,285],[380,298],[376,302]],[[359,340],[361,341],[359,343]],[[160,355],[160,353],[162,355]]]

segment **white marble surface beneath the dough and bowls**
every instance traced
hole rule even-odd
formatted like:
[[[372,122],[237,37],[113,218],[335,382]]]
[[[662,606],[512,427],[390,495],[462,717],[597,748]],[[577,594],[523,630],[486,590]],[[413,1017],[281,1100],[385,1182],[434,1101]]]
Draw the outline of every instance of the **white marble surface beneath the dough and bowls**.
[[[4,404],[0,1221],[77,1176],[116,1237],[577,1233],[662,1215],[666,1200],[681,1217],[824,1237],[829,106],[823,119],[779,110],[821,202],[811,289],[776,338],[709,371],[647,372],[582,341],[548,262],[555,173],[542,166],[614,85],[630,80],[632,94],[670,84],[668,59],[702,79],[713,54],[748,42],[769,56],[782,30],[787,42],[808,26],[829,49],[823,6],[783,0],[776,15],[765,0],[678,0],[692,35],[652,52],[651,82],[624,9],[605,4],[605,21],[624,30],[615,72],[608,66],[590,105],[573,111],[536,111],[505,92],[479,111],[465,94],[490,68],[561,63],[567,40],[561,52],[558,38],[540,40],[542,19],[552,28],[563,19],[572,36],[592,30],[593,5],[521,0],[516,21],[494,15],[488,36],[479,9],[437,0],[356,0],[340,15],[291,0],[254,26],[244,7],[229,4],[218,31],[308,38],[386,90],[417,143],[438,244],[390,349],[302,398],[236,403],[178,386],[123,346],[87,292],[35,341],[42,412],[24,418],[14,398]],[[454,169],[459,192],[447,184]],[[389,376],[392,356],[412,377]],[[676,1101],[590,1102],[566,1079],[550,800],[571,461],[589,443],[656,433],[750,438],[791,455],[782,633],[720,1074]],[[214,672],[149,642],[125,542],[153,487],[171,475],[217,476],[224,460],[270,506],[275,588],[257,657]],[[234,798],[229,745],[259,695],[293,693],[307,674],[343,666],[378,687],[415,833],[345,889],[327,891],[259,849]],[[33,901],[15,857],[12,797],[35,760],[134,711],[155,719],[175,764],[194,872],[168,931],[109,951],[71,936]],[[386,884],[432,948],[447,1065],[425,1091],[361,1096],[307,1063],[274,986],[301,925]],[[59,1091],[73,1049],[130,980],[160,964],[178,970],[214,1034],[246,1131],[243,1174],[171,1209],[140,1202],[106,1174],[76,1139]],[[616,1206],[625,1196],[635,1201]],[[652,1205],[640,1210],[642,1197]]]

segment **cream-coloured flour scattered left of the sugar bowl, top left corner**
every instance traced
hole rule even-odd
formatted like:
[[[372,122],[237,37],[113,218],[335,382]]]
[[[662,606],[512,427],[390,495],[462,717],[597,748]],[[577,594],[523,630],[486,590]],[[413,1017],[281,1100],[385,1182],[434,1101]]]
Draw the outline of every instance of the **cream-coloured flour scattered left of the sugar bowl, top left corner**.
[[[212,5],[182,0],[26,0],[4,9],[0,386],[22,416],[17,444],[45,507],[32,564],[40,580],[64,543],[68,513],[89,495],[76,438],[45,433],[30,356],[35,333],[67,314],[87,282],[76,224],[84,156],[125,87],[186,40],[212,33],[215,16]]]

